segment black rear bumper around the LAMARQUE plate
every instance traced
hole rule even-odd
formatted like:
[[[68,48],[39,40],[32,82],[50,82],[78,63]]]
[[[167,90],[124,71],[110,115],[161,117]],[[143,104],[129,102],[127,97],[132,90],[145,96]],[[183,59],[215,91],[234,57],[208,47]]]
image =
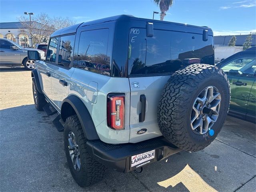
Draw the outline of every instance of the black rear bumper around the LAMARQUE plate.
[[[168,142],[163,136],[139,143],[127,144],[106,144],[100,140],[89,140],[87,142],[87,148],[90,155],[98,162],[101,162],[108,168],[124,173],[136,169],[136,166],[131,168],[131,156],[155,150],[154,160],[145,163],[150,164],[163,160],[182,150]]]

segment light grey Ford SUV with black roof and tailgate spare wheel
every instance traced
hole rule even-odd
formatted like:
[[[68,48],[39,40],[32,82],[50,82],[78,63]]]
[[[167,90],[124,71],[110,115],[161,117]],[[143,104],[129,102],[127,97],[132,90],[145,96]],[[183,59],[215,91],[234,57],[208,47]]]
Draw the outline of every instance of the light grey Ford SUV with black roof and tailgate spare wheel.
[[[74,180],[89,186],[107,167],[138,173],[208,146],[230,102],[213,47],[210,28],[121,15],[54,32],[45,61],[28,51],[35,107],[59,114]]]

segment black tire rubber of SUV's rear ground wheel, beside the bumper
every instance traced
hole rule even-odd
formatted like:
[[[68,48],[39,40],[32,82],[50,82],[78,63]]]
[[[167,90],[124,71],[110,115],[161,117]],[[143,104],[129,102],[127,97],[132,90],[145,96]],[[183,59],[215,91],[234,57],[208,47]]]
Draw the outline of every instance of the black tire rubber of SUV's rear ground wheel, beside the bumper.
[[[102,180],[106,174],[106,166],[92,158],[87,150],[87,139],[82,130],[82,126],[77,115],[72,115],[66,119],[64,129],[69,124],[75,130],[74,134],[79,143],[79,151],[81,157],[82,176],[76,180],[79,186],[86,187]],[[83,168],[83,169],[82,169]],[[72,173],[72,172],[71,172]]]

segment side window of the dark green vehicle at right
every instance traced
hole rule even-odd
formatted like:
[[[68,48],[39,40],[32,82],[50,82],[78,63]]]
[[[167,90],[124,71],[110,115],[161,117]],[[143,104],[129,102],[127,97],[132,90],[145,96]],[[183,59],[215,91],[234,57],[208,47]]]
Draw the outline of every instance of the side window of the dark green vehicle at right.
[[[253,76],[256,71],[256,59],[253,57],[236,58],[221,68],[228,75]]]

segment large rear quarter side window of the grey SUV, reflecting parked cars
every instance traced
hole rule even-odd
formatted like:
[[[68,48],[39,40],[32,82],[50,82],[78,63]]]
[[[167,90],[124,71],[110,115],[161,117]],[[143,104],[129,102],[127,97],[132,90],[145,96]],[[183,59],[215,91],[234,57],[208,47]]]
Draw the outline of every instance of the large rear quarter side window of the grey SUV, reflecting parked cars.
[[[84,31],[80,34],[78,55],[74,67],[110,75],[110,57],[107,56],[108,29]]]

